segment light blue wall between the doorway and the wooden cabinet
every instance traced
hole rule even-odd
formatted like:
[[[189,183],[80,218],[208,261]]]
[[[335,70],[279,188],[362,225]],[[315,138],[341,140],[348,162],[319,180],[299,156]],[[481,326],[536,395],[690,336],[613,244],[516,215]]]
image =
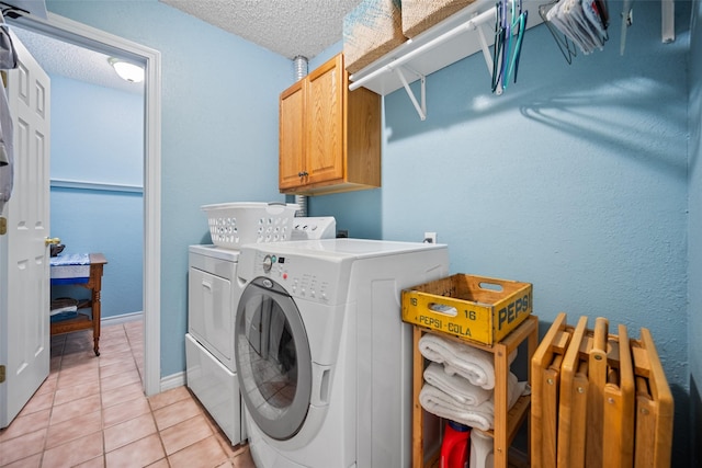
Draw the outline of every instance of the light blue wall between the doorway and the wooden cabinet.
[[[284,199],[278,96],[293,81],[292,62],[157,0],[46,5],[161,53],[161,375],[181,373],[188,246],[210,241],[200,207]]]

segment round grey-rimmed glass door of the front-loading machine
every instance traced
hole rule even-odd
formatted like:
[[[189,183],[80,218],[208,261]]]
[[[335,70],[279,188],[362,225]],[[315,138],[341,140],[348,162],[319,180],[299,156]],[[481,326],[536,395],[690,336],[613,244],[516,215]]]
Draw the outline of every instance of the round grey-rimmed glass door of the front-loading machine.
[[[307,416],[312,355],[302,316],[278,283],[257,277],[244,289],[235,324],[244,402],[263,433],[285,441]]]

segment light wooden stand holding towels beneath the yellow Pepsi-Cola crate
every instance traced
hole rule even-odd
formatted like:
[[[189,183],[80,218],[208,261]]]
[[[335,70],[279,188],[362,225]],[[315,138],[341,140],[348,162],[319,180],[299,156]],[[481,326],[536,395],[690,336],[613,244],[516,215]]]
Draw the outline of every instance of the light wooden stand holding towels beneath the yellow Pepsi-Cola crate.
[[[532,355],[539,344],[539,318],[536,316],[530,316],[524,322],[522,322],[514,331],[512,331],[507,338],[492,346],[461,340],[456,336],[452,336],[445,333],[437,332],[433,330],[427,330],[415,326],[412,350],[414,350],[414,369],[412,369],[412,468],[422,467],[438,467],[439,466],[439,453],[424,456],[424,437],[423,437],[423,422],[424,410],[419,403],[419,392],[423,385],[423,372],[424,372],[424,358],[419,352],[419,340],[423,333],[440,334],[444,339],[460,341],[464,344],[469,344],[478,350],[484,350],[492,353],[495,356],[495,430],[491,431],[495,440],[494,445],[494,461],[495,468],[507,468],[508,466],[508,449],[517,434],[517,431],[521,424],[526,420],[529,414],[529,408],[531,404],[531,397],[520,397],[519,401],[512,407],[508,408],[508,392],[507,392],[507,379],[509,376],[509,355],[512,351],[517,350],[519,345],[526,340],[528,344],[528,363],[531,363]],[[530,367],[530,366],[528,366]],[[531,369],[529,370],[531,372]],[[531,383],[531,375],[529,376]],[[427,460],[427,463],[424,463]]]

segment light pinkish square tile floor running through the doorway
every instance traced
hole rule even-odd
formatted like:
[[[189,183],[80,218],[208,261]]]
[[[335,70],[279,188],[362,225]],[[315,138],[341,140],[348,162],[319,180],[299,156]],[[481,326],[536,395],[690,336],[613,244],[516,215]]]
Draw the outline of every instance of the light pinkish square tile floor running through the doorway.
[[[49,376],[0,431],[0,467],[254,468],[185,387],[146,398],[140,321],[52,338]]]

